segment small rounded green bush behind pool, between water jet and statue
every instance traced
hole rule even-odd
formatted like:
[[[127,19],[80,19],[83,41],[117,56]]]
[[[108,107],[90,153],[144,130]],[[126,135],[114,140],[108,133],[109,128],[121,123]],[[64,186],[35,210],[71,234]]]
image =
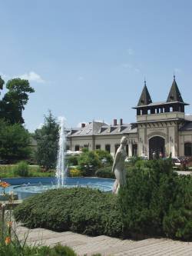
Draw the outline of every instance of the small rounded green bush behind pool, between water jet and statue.
[[[84,150],[78,157],[78,165],[85,176],[91,176],[97,168],[101,167],[101,161],[95,151]]]

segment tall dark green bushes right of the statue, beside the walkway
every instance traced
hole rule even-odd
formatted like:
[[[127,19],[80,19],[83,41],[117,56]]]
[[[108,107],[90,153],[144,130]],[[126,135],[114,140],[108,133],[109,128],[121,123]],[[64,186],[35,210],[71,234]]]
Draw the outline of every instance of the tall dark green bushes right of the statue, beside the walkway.
[[[178,177],[171,166],[169,160],[157,160],[137,161],[134,167],[129,168],[127,185],[121,189],[119,197],[124,235],[166,234],[171,238],[192,239],[191,208],[186,211],[191,204],[188,192],[191,190],[191,178],[188,185],[184,184],[181,182],[183,178]],[[188,218],[184,217],[185,213],[189,214]],[[179,224],[179,219],[182,219],[182,224]]]

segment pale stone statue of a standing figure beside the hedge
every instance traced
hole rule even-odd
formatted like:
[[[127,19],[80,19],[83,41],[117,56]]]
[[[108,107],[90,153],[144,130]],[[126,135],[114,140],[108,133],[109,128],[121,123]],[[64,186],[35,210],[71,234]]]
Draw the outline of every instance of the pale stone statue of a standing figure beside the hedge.
[[[126,145],[127,145],[127,138],[122,137],[121,138],[121,145],[118,148],[118,151],[116,152],[116,155],[114,157],[114,164],[112,167],[112,172],[114,172],[116,180],[114,181],[114,188],[113,192],[114,194],[118,194],[119,188],[121,185],[126,184],[126,175],[124,170],[124,160],[127,157],[126,152]]]

